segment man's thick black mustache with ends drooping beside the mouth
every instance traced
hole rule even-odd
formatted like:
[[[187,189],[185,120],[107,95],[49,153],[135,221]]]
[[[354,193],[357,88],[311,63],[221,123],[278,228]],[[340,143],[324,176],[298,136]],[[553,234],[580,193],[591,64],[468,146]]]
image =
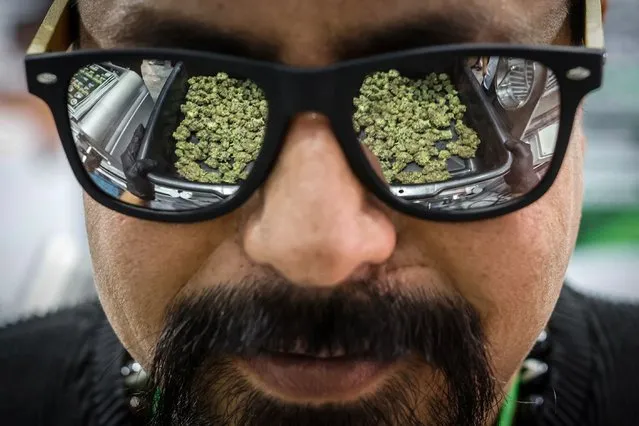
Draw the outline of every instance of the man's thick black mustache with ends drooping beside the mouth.
[[[151,378],[169,403],[198,388],[205,367],[224,358],[303,351],[392,361],[411,354],[443,373],[457,418],[486,413],[494,383],[475,309],[460,296],[382,288],[389,286],[354,282],[324,291],[251,281],[183,298],[167,311]]]

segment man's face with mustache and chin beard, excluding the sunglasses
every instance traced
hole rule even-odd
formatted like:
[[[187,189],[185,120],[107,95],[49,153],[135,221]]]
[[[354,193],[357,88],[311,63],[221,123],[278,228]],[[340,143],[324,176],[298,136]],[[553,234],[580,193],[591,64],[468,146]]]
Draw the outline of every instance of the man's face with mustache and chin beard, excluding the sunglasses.
[[[268,44],[278,61],[303,67],[339,61],[343,52],[383,30],[386,39],[376,37],[369,53],[414,47],[393,34],[416,17],[455,22],[442,26],[445,35],[423,44],[570,41],[563,0],[93,0],[81,1],[80,12],[83,47],[148,44],[136,43],[138,30],[170,18],[185,23],[182,32],[163,35],[172,45],[216,51],[216,44],[203,44],[199,37],[193,41],[197,45],[189,44],[194,38],[189,27],[210,29],[254,43],[246,54],[264,56],[260,49]],[[100,299],[142,365],[174,382],[183,371],[182,389],[206,411],[191,419],[202,423],[208,418],[263,424],[256,419],[265,415],[281,420],[277,424],[476,421],[458,407],[464,405],[464,389],[477,385],[466,372],[490,383],[497,396],[506,391],[558,298],[579,225],[583,148],[577,125],[554,186],[533,205],[492,220],[436,223],[403,216],[373,198],[353,175],[328,120],[300,114],[267,182],[222,218],[188,225],[148,222],[87,197]],[[284,287],[287,293],[280,291]],[[389,300],[399,300],[406,315],[386,305]],[[169,309],[174,315],[167,320]],[[392,322],[388,329],[375,322],[376,312]],[[292,339],[281,342],[287,354],[243,358],[220,349],[249,347],[257,339],[249,328],[259,324],[258,313],[265,323],[286,330],[275,334]],[[220,337],[211,318],[241,335]],[[370,319],[370,328],[363,319]],[[291,324],[328,334],[294,336]],[[403,348],[414,350],[393,356],[395,348],[388,345],[401,340],[400,327],[420,324],[439,340],[425,339],[429,345],[420,353],[418,344],[404,339]],[[397,334],[387,340],[371,335],[380,330]],[[180,331],[197,340],[198,353],[189,352],[190,341],[180,340]],[[464,333],[483,340],[467,347]],[[210,354],[202,353],[203,336],[211,340]],[[235,346],[222,341],[234,337],[246,340]],[[308,352],[313,339],[340,347],[291,354]],[[363,341],[387,347],[361,357],[344,349],[352,344],[370,350]],[[176,342],[187,346],[180,351]],[[166,353],[156,353],[156,346]],[[348,359],[340,359],[344,352]],[[191,377],[191,366],[163,372],[178,356],[193,362],[205,379]],[[488,403],[498,405],[492,398]],[[490,421],[496,409],[488,405],[473,407],[487,410]]]

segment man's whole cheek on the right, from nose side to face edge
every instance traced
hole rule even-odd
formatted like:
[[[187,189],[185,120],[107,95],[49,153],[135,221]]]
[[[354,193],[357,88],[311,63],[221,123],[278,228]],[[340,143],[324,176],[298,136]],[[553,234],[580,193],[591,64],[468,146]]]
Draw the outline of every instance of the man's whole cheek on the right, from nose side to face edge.
[[[504,381],[547,323],[563,285],[581,215],[583,143],[575,132],[555,184],[519,212],[410,227],[425,256],[480,312],[496,374]]]

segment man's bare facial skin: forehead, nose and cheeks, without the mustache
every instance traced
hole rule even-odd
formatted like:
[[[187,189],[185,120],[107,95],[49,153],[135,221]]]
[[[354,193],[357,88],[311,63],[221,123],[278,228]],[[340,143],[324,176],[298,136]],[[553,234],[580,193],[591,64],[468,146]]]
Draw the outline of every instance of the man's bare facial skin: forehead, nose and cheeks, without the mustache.
[[[570,40],[560,0],[85,0],[83,47],[135,45],[126,36],[136,25],[128,12],[142,7],[268,40],[280,62],[297,66],[330,64],[343,38],[415,14],[476,13],[485,22],[476,41]],[[216,220],[142,221],[85,197],[100,300],[130,353],[149,366],[166,307],[219,283],[279,274],[328,288],[380,276],[466,298],[481,314],[507,390],[554,309],[574,249],[585,148],[579,117],[550,191],[516,213],[473,223],[421,221],[373,199],[321,115],[295,117],[284,142],[266,184]],[[432,380],[427,368],[415,374],[425,387]]]

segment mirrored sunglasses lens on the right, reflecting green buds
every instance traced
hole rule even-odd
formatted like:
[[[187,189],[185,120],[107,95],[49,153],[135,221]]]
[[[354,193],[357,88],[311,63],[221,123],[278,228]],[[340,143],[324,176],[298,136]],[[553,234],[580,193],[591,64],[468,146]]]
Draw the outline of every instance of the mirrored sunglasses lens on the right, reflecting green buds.
[[[398,198],[425,211],[495,208],[530,193],[557,142],[560,92],[544,65],[446,57],[368,75],[353,126]]]

